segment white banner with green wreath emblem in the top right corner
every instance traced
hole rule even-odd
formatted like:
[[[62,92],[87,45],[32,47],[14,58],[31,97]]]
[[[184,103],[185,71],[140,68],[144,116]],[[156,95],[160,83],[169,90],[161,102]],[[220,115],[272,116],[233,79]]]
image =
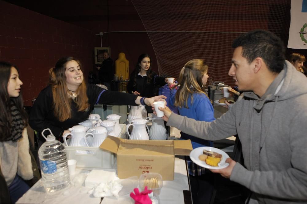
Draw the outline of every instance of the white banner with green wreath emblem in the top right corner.
[[[307,0],[291,0],[288,48],[307,49]]]

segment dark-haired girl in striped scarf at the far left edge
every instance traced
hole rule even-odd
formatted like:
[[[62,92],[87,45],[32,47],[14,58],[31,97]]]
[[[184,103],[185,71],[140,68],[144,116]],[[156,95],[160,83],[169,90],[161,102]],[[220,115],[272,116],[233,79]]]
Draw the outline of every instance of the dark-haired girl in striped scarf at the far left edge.
[[[15,203],[29,190],[25,180],[36,182],[40,176],[29,151],[28,117],[17,69],[0,62],[0,82],[0,203]]]

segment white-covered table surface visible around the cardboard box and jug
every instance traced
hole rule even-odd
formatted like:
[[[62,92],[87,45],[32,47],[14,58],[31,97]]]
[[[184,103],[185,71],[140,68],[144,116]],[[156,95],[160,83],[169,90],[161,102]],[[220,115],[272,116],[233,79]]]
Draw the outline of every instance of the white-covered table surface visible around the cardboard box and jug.
[[[76,169],[77,173],[89,172],[87,170]],[[189,192],[189,183],[186,170],[186,162],[184,159],[175,158],[175,174],[174,180],[163,181],[163,187],[159,195],[161,204],[184,204],[184,192],[185,195]],[[86,204],[125,204],[134,203],[129,194],[123,195],[116,199],[114,196],[101,198],[95,198],[92,194],[88,194],[90,188],[82,186],[71,185],[68,189],[59,191],[54,195],[47,194],[42,185],[42,181],[39,180],[33,187],[30,188],[18,201],[17,203],[86,203]],[[187,196],[189,197],[189,196]],[[190,199],[186,198],[188,203]]]

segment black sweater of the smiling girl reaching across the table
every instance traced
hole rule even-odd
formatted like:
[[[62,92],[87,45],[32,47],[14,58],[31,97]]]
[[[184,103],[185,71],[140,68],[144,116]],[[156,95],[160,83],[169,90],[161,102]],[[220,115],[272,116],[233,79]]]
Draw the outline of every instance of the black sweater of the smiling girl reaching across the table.
[[[103,92],[102,92],[103,91]],[[100,93],[102,94],[100,95]],[[78,111],[76,103],[72,100],[71,109],[72,117],[66,121],[60,122],[53,114],[53,96],[51,86],[47,86],[38,95],[35,103],[31,109],[29,116],[29,124],[31,128],[39,132],[41,141],[45,142],[45,139],[41,136],[41,132],[45,128],[50,128],[56,139],[59,139],[64,130],[71,128],[78,123],[87,120],[91,111],[94,109],[94,105],[100,95],[98,104],[109,104],[109,105],[136,105],[135,99],[137,96],[130,95],[122,92],[107,91],[96,85],[87,85],[87,97],[90,108],[86,111]]]

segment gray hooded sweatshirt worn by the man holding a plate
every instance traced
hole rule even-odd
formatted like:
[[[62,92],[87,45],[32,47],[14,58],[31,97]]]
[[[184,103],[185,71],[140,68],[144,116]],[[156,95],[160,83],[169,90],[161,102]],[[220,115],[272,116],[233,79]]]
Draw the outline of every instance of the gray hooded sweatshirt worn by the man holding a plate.
[[[307,78],[285,61],[284,69],[259,98],[242,100],[213,122],[172,113],[167,125],[207,140],[238,135],[244,165],[230,180],[253,194],[252,203],[307,203]]]

